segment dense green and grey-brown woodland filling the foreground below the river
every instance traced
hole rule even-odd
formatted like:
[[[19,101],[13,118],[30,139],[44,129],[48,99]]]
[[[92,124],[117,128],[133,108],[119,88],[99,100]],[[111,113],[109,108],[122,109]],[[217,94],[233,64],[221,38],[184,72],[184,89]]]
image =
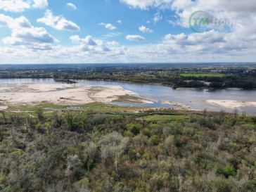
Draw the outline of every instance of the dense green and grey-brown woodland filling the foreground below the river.
[[[256,117],[102,108],[1,111],[0,191],[255,191]]]

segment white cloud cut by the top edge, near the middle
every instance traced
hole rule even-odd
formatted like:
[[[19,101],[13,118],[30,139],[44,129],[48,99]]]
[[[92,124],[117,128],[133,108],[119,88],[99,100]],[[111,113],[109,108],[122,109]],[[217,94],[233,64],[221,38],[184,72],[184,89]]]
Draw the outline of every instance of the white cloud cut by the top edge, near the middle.
[[[145,10],[149,7],[169,8],[172,0],[120,0],[120,2],[129,5],[131,8]]]

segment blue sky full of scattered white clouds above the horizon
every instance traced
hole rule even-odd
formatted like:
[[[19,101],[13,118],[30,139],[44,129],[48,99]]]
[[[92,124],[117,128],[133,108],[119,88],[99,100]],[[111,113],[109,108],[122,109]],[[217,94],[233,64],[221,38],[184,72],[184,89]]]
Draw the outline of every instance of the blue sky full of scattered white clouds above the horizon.
[[[255,62],[255,23],[255,0],[0,0],[0,64]]]

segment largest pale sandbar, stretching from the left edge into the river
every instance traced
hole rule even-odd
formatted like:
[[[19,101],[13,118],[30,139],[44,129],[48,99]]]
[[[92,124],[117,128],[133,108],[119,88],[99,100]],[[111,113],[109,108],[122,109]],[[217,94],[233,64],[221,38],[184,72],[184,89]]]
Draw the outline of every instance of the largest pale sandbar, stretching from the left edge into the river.
[[[86,103],[109,103],[120,96],[136,95],[120,86],[85,86],[74,84],[8,84],[0,86],[0,109],[7,106],[39,105],[52,103],[56,105],[79,105]],[[148,103],[138,98],[140,103]]]

